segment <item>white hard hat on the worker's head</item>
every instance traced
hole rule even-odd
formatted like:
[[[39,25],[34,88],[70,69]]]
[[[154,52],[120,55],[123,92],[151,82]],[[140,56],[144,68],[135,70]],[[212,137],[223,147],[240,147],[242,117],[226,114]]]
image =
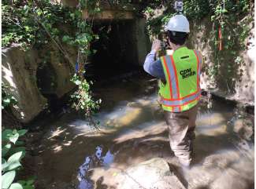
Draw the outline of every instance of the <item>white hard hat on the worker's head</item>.
[[[189,22],[186,16],[179,14],[171,17],[169,22],[165,25],[165,31],[180,31],[189,33]]]

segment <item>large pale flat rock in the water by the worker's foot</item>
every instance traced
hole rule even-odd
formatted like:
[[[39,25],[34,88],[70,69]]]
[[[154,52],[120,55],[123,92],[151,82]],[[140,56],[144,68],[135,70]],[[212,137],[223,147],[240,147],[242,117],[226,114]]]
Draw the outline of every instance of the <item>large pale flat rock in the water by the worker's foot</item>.
[[[163,158],[153,158],[126,169],[115,179],[117,189],[185,189]]]

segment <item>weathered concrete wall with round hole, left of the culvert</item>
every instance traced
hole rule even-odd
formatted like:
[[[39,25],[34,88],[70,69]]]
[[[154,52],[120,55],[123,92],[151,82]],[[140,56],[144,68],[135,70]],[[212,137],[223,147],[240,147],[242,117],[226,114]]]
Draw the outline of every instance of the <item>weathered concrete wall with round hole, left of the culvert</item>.
[[[47,89],[44,86],[40,86],[44,91],[39,89],[39,78],[37,78],[44,53],[46,49],[24,52],[18,47],[12,47],[2,50],[2,82],[9,85],[9,93],[12,93],[18,101],[17,106],[13,107],[13,114],[21,122],[31,121],[47,107],[48,100],[43,96]],[[57,50],[50,52],[48,64],[51,65],[50,71],[56,75],[54,88],[49,91],[60,98],[74,88],[70,82],[72,68]],[[44,73],[43,77],[49,74]],[[49,85],[51,83],[46,83],[46,86]]]

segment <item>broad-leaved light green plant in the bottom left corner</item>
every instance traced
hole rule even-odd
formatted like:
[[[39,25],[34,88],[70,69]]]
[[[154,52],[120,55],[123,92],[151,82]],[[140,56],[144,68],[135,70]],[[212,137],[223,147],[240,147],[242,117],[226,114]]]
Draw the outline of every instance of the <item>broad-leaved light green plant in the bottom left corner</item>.
[[[17,180],[17,173],[22,171],[20,161],[24,158],[26,149],[20,136],[27,130],[2,131],[2,189],[34,189],[34,180]]]

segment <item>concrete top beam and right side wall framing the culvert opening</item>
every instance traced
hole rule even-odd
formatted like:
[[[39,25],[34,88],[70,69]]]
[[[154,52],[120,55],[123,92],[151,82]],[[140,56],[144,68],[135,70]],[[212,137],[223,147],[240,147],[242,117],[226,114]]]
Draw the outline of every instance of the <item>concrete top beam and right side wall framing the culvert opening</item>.
[[[53,0],[53,2],[69,7],[76,7],[78,5],[77,0]],[[126,5],[124,8],[120,5],[110,5],[107,1],[100,1],[99,7],[101,7],[101,11],[99,13],[95,13],[94,15],[90,15],[85,10],[83,12],[84,18],[87,20],[91,20],[93,18],[95,22],[99,23],[107,23],[113,21],[119,21],[124,23],[126,21],[134,22],[134,26],[127,27],[127,32],[132,32],[132,38],[134,39],[135,43],[135,49],[133,49],[132,56],[134,53],[136,53],[137,63],[135,64],[143,65],[145,56],[150,51],[150,39],[149,36],[146,35],[146,19],[136,16],[134,10],[135,5]],[[123,35],[122,38],[126,38],[125,32],[121,33],[120,35]]]

